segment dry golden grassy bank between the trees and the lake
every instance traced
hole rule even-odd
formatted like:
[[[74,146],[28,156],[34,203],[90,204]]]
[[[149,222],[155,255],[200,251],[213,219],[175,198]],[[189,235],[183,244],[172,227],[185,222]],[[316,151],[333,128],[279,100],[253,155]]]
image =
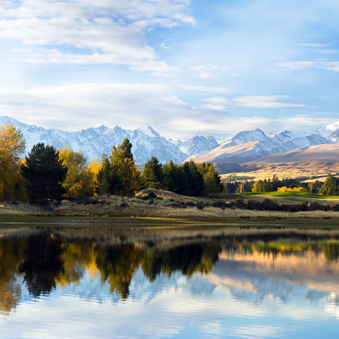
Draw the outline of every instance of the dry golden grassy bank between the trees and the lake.
[[[152,191],[157,197],[144,200],[148,190],[135,197],[99,197],[95,204],[70,203],[54,208],[52,211],[20,211],[0,208],[0,222],[21,223],[57,223],[57,224],[116,224],[116,225],[238,225],[242,227],[260,225],[300,226],[300,227],[337,227],[339,212],[275,212],[256,211],[239,208],[206,206],[215,201],[230,201],[237,198],[264,200],[269,197],[277,203],[300,203],[317,201],[330,203],[302,195],[285,196],[244,196],[239,194],[224,194],[214,198],[184,197],[171,192]],[[332,203],[336,201],[335,199]],[[339,200],[337,200],[338,202]],[[198,206],[182,205],[193,202]]]

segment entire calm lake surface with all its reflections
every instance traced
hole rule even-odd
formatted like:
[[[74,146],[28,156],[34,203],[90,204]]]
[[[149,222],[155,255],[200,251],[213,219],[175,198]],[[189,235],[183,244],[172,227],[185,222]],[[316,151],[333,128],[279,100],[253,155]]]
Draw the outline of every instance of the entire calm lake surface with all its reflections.
[[[338,338],[339,232],[0,229],[0,338]]]

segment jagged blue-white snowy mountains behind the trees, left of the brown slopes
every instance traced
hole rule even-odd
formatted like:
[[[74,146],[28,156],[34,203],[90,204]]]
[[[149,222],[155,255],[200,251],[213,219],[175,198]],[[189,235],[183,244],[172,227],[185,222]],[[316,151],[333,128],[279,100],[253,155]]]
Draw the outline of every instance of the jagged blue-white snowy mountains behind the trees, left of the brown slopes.
[[[136,164],[144,164],[152,156],[155,156],[161,163],[166,163],[171,159],[175,163],[180,163],[194,153],[218,146],[217,141],[210,136],[207,138],[196,136],[185,142],[179,142],[179,140],[178,142],[169,141],[161,137],[150,126],[140,127],[135,131],[131,131],[119,126],[111,129],[102,125],[83,129],[80,132],[66,132],[28,125],[9,117],[0,117],[0,123],[8,121],[21,128],[26,139],[25,155],[32,149],[33,145],[43,142],[53,145],[57,149],[68,145],[73,151],[82,151],[87,159],[101,158],[103,153],[111,154],[113,145],[117,146],[117,144],[122,143],[124,138],[128,138],[133,145],[132,153]]]

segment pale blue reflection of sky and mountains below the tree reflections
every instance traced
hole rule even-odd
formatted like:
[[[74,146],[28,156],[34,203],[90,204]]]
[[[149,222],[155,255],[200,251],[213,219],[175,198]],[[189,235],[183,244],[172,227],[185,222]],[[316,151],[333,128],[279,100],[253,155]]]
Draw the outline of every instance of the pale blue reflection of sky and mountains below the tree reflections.
[[[337,337],[339,290],[321,289],[321,277],[312,289],[307,274],[292,280],[279,258],[272,271],[260,260],[250,265],[250,259],[244,264],[221,256],[208,275],[161,273],[154,282],[139,267],[127,300],[86,271],[79,283],[57,286],[35,300],[23,285],[16,311],[0,317],[0,337]],[[336,280],[336,272],[331,274]]]

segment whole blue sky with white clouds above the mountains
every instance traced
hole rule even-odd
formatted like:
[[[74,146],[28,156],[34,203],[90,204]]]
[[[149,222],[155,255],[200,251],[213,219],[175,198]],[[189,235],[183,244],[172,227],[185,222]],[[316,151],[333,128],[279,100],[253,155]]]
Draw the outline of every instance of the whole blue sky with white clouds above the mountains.
[[[219,142],[339,119],[337,0],[2,0],[0,116]]]

